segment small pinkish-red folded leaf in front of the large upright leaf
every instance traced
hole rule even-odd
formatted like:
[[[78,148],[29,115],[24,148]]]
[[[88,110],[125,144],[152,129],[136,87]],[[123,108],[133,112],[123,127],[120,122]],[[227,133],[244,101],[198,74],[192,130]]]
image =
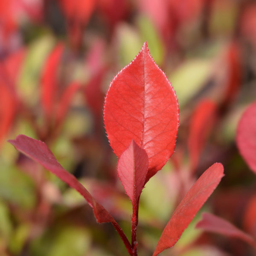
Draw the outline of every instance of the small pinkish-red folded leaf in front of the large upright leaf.
[[[133,205],[139,201],[148,172],[148,155],[134,140],[121,154],[117,163],[119,179]]]

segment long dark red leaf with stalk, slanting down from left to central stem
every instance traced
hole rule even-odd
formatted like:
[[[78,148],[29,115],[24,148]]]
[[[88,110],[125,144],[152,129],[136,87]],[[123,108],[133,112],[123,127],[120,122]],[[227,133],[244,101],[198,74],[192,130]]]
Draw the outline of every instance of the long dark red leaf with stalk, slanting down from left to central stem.
[[[14,145],[18,151],[25,154],[27,157],[44,166],[45,169],[48,169],[62,181],[67,183],[70,187],[76,189],[76,191],[79,192],[88,202],[90,207],[93,208],[93,213],[97,222],[111,222],[124,241],[128,251],[131,250],[131,244],[110,213],[101,204],[98,204],[94,200],[92,195],[90,195],[87,189],[84,188],[84,186],[76,179],[74,175],[67,172],[60,165],[60,163],[58,163],[55,156],[44,142],[32,139],[25,135],[18,135],[15,140],[9,140],[9,143]]]

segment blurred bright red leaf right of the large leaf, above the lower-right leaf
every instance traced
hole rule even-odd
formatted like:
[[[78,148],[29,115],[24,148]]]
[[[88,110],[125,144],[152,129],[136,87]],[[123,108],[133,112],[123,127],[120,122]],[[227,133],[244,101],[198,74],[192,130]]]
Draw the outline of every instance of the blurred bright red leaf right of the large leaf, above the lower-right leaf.
[[[188,150],[192,170],[195,170],[198,166],[201,151],[216,119],[216,111],[217,105],[215,102],[207,99],[199,102],[191,116]]]

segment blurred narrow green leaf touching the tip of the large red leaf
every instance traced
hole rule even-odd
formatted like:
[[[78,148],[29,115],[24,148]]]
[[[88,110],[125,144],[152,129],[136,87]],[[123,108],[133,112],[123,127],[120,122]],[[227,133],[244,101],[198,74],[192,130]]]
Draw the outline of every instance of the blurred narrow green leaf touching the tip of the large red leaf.
[[[164,46],[163,42],[160,40],[160,35],[158,35],[156,28],[145,16],[139,17],[137,23],[140,28],[140,34],[143,41],[147,41],[148,43],[152,58],[157,65],[161,65],[164,60]]]

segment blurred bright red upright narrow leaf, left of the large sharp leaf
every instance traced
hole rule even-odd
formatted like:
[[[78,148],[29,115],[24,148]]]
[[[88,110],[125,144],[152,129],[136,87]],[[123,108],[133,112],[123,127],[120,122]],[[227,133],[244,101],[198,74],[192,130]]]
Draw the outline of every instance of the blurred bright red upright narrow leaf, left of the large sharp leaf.
[[[58,89],[57,71],[63,51],[64,44],[59,43],[55,46],[44,64],[42,73],[42,105],[48,119],[52,116],[53,106],[56,100]]]

